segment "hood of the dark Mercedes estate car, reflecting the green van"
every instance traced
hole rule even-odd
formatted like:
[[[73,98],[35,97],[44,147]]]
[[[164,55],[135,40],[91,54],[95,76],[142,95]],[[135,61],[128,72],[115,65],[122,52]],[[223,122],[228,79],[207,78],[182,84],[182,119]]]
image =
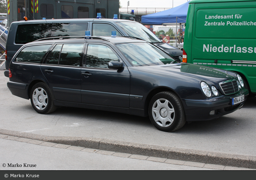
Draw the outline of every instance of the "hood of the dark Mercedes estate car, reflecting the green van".
[[[142,66],[140,67],[142,71],[149,71],[154,75],[165,74],[177,77],[186,76],[190,78],[196,78],[203,81],[212,81],[218,83],[220,81],[225,81],[228,79],[234,79],[234,73],[230,71],[225,71],[222,69],[214,69],[208,66],[200,66],[189,63],[176,63],[176,64],[166,64],[158,66]]]

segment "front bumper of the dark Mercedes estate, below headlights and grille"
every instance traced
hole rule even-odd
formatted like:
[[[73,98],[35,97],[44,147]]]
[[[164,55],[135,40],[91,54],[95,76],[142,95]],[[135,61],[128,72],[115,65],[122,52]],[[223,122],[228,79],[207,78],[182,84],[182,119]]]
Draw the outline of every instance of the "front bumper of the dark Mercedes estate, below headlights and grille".
[[[232,105],[232,98],[245,95],[243,102]],[[187,121],[213,120],[241,109],[249,95],[249,92],[241,90],[229,96],[220,96],[206,100],[183,100]],[[210,115],[210,112],[214,114]]]

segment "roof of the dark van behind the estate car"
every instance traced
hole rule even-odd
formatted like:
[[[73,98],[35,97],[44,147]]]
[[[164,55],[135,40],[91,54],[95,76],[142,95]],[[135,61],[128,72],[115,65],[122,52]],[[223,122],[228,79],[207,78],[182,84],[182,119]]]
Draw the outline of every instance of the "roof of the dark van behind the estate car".
[[[134,22],[126,19],[95,19],[95,18],[74,18],[74,19],[39,19],[39,20],[27,20],[27,21],[14,21],[12,24],[31,24],[31,23],[60,23],[60,22],[89,22],[89,21],[103,21],[103,22]]]

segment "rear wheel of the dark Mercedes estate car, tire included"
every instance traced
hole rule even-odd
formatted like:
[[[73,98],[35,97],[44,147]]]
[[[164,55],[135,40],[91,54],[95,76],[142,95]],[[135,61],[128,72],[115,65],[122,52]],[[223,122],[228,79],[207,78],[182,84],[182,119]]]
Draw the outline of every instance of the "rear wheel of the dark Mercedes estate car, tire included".
[[[51,113],[57,108],[54,105],[49,87],[42,82],[35,84],[31,89],[30,101],[35,111],[40,114]]]

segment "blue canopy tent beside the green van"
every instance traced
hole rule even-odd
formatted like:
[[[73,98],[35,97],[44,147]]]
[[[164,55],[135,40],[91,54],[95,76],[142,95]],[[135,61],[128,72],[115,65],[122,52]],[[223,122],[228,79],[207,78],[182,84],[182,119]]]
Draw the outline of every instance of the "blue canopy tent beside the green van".
[[[185,23],[189,2],[190,1],[158,13],[143,15],[141,16],[141,23],[148,25],[174,25],[176,23]]]

